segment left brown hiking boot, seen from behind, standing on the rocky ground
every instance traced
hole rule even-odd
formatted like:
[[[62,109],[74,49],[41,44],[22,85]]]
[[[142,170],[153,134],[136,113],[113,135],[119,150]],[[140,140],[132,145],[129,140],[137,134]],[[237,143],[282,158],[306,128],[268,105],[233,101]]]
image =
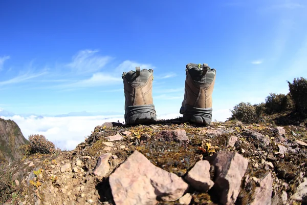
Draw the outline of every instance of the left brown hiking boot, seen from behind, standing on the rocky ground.
[[[152,100],[153,70],[136,67],[136,71],[123,73],[125,93],[125,121],[127,125],[157,121]]]

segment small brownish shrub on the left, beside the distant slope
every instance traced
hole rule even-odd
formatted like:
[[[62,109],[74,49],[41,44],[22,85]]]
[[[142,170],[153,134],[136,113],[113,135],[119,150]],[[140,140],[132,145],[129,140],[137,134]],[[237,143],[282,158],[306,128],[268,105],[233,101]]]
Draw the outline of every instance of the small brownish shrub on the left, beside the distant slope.
[[[55,145],[45,138],[43,135],[30,135],[29,136],[30,154],[41,153],[49,154],[55,152]]]

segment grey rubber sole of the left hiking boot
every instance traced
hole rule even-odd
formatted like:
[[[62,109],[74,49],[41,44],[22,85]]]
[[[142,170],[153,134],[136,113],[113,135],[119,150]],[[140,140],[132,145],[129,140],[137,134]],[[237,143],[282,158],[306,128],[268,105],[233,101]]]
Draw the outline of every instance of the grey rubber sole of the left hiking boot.
[[[154,105],[128,106],[126,108],[126,125],[147,124],[157,121],[157,114]]]

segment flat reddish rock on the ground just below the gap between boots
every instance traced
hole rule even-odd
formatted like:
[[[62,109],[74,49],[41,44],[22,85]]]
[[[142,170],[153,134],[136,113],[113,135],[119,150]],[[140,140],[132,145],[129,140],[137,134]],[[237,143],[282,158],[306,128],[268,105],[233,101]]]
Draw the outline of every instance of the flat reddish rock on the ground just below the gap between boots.
[[[156,134],[157,138],[164,139],[165,141],[176,141],[176,142],[188,142],[189,138],[185,130],[164,130]]]

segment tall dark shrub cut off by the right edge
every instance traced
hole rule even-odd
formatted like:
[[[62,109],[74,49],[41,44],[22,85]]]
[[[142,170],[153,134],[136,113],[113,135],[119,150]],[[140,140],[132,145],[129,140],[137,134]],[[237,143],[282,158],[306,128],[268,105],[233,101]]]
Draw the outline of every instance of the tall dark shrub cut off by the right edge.
[[[307,79],[294,78],[289,84],[290,95],[294,101],[295,110],[303,117],[307,116]]]

